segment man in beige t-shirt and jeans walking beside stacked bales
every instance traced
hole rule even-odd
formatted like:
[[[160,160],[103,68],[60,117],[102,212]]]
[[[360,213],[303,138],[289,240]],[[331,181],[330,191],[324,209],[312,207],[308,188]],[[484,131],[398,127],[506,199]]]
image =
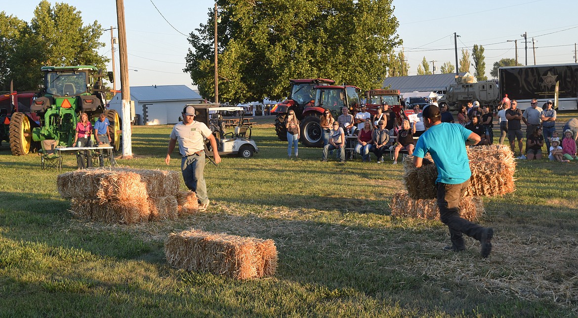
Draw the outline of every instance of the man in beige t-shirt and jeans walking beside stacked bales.
[[[221,162],[218,155],[217,141],[207,125],[195,121],[195,108],[185,106],[183,108],[183,121],[176,124],[169,139],[169,150],[166,153],[166,164],[171,163],[171,153],[179,142],[181,158],[181,171],[187,188],[197,193],[201,205],[199,211],[204,211],[209,206],[207,184],[203,172],[205,171],[205,138],[209,139],[213,149],[213,159],[216,164]]]

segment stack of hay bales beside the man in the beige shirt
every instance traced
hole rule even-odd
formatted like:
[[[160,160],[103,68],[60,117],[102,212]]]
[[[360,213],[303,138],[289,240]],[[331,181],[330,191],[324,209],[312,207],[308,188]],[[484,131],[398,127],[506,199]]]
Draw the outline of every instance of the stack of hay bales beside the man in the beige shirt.
[[[179,172],[129,168],[83,169],[57,179],[77,217],[121,224],[176,219],[179,186]]]

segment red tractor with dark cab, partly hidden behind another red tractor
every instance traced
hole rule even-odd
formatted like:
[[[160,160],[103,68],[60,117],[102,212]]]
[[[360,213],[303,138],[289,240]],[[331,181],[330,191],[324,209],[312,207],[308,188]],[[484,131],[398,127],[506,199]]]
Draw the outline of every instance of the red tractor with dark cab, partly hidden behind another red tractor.
[[[307,103],[313,101],[315,96],[315,86],[327,86],[335,83],[329,79],[297,79],[289,80],[291,83],[291,95],[285,101],[281,102],[275,112],[277,118],[275,119],[275,131],[280,140],[287,140],[287,129],[285,128],[285,119],[287,112],[294,110],[295,116],[298,120],[303,119],[303,110]]]

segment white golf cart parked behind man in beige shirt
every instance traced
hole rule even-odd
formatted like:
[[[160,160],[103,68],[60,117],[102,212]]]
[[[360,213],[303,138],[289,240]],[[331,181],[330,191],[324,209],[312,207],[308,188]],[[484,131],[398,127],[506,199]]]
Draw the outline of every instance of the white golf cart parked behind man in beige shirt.
[[[253,157],[259,152],[257,144],[251,139],[251,127],[244,124],[243,108],[239,106],[216,107],[214,104],[191,104],[197,112],[195,120],[202,121],[213,132],[217,141],[219,156],[238,154],[242,158]],[[240,110],[240,112],[238,112]],[[234,119],[227,119],[228,125],[233,125],[233,131],[226,132],[224,112],[240,113]],[[233,123],[233,124],[231,124]],[[206,153],[211,156],[213,151],[210,143],[206,143]]]

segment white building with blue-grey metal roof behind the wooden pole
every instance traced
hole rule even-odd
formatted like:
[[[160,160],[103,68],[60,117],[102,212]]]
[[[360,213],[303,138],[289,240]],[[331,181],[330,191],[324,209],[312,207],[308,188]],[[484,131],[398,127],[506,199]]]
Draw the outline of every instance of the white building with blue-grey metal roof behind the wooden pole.
[[[135,102],[137,125],[165,125],[179,122],[184,105],[202,103],[203,98],[186,85],[131,86],[131,101]],[[110,99],[110,109],[119,114],[121,94]]]

